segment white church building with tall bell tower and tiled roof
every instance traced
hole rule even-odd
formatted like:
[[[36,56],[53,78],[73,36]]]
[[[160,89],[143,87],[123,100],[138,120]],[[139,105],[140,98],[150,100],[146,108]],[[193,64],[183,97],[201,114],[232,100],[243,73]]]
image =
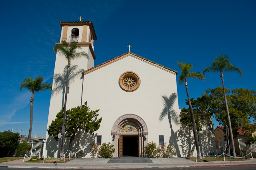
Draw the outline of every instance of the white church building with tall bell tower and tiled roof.
[[[94,66],[97,37],[92,21],[59,24],[62,28],[60,42],[75,41],[89,56],[89,59],[71,61],[72,65],[78,65],[85,71],[69,85],[67,109],[87,101],[91,110],[99,109],[98,118],[102,117],[101,126],[94,135],[83,130],[77,133],[73,151],[83,150],[84,157],[89,158],[90,143],[111,142],[115,148],[113,157],[142,157],[142,148],[153,141],[157,145],[165,142],[173,145],[176,150],[174,157],[187,156],[194,144],[192,131],[186,132],[188,128],[182,129],[173,121],[181,112],[177,96],[178,72],[134,54],[130,48],[129,52],[118,57],[110,56],[110,60]],[[67,60],[57,53],[54,74],[63,73],[66,65]],[[47,128],[63,108],[64,96],[63,91],[52,94]],[[213,130],[199,134],[199,142],[202,155],[216,152]],[[47,156],[57,156],[57,144],[47,134]],[[68,153],[68,144],[69,139],[66,139],[64,153]]]

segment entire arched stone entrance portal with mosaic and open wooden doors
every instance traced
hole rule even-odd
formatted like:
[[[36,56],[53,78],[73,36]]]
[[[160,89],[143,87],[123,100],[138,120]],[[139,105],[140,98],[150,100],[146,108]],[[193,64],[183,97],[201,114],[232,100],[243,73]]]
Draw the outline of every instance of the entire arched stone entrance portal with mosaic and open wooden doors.
[[[143,147],[148,143],[148,127],[145,121],[135,114],[124,114],[112,127],[113,157],[143,156]]]

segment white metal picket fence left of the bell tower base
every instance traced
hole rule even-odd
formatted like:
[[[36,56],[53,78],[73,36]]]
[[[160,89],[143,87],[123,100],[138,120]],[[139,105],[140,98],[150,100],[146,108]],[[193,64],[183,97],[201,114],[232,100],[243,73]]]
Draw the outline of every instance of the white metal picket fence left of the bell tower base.
[[[24,140],[19,140],[19,144],[21,144]],[[31,145],[30,151],[29,151],[29,157],[37,156],[42,157],[45,153],[45,140],[30,140],[28,141],[28,144]],[[16,148],[10,148],[6,152],[3,153],[4,157],[16,157],[15,153]]]

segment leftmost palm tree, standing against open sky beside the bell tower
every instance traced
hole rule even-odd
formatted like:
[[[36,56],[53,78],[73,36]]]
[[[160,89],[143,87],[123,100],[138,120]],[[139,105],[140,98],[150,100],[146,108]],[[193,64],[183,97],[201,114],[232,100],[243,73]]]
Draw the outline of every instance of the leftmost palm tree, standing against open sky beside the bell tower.
[[[29,92],[32,93],[30,98],[30,126],[28,132],[28,140],[31,139],[32,133],[32,121],[33,121],[33,102],[34,102],[34,94],[36,92],[43,92],[46,90],[51,90],[51,83],[44,82],[44,78],[42,76],[38,76],[37,78],[33,79],[31,77],[27,77],[20,83],[20,91],[22,88],[27,89]]]

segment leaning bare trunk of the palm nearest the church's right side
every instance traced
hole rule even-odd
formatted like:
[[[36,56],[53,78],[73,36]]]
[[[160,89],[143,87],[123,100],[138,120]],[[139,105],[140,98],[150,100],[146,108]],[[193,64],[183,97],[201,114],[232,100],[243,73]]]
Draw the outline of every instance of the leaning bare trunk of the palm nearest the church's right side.
[[[200,153],[200,148],[199,148],[199,141],[198,141],[195,117],[194,117],[194,114],[193,114],[193,108],[192,108],[192,104],[191,104],[191,101],[190,101],[190,98],[189,98],[189,93],[188,93],[188,83],[187,83],[187,80],[185,80],[185,87],[186,87],[187,96],[188,96],[188,106],[189,106],[189,112],[190,112],[190,116],[191,116],[191,121],[192,121],[192,124],[193,124],[193,133],[194,133],[194,138],[195,138],[195,143],[196,143],[196,148],[197,148],[197,154],[198,154],[199,158],[202,159],[201,153]]]

